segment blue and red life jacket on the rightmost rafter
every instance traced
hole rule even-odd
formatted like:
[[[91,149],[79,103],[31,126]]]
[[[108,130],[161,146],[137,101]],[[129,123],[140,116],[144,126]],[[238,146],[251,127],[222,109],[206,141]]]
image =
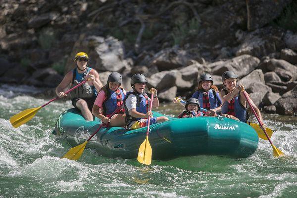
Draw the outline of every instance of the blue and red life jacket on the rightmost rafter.
[[[233,115],[242,122],[247,122],[247,120],[249,121],[247,108],[240,102],[240,91],[236,97],[223,103],[222,114]]]

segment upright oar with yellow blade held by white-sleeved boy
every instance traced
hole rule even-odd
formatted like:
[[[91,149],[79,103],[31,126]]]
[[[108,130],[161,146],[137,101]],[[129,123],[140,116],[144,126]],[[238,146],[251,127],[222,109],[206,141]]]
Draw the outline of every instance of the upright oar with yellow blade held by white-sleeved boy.
[[[149,111],[151,111],[152,109],[153,95],[154,95],[154,92],[151,92]],[[148,129],[147,129],[146,139],[144,140],[143,143],[141,143],[138,150],[138,155],[137,155],[137,161],[145,165],[151,164],[151,155],[152,155],[152,149],[148,141],[149,125],[150,125],[150,116],[148,116]]]

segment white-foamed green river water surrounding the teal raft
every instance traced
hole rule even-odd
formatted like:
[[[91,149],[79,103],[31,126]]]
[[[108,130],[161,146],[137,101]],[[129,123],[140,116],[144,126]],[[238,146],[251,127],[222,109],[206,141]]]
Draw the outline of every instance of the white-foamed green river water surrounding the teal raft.
[[[297,117],[264,115],[274,131],[272,142],[285,153],[281,158],[260,139],[256,153],[244,159],[192,156],[153,160],[145,167],[136,159],[110,159],[86,148],[79,161],[71,161],[60,159],[71,147],[51,133],[70,101],[52,102],[19,128],[9,122],[49,101],[32,97],[41,91],[0,86],[0,198],[297,197]],[[176,116],[182,107],[161,104],[157,110]]]

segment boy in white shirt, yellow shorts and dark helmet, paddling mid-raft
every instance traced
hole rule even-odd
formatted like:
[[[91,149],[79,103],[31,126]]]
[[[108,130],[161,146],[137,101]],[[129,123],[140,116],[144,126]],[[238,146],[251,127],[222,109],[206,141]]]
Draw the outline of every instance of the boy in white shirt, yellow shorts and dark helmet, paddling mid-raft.
[[[148,110],[150,98],[146,93],[144,93],[146,84],[147,79],[142,74],[134,74],[131,77],[130,85],[133,88],[133,91],[127,92],[124,99],[127,129],[132,130],[147,126],[148,116],[150,116],[150,124],[156,124],[168,120],[165,116],[153,117],[152,112]],[[154,91],[152,105],[153,107],[158,107],[160,104],[157,97],[157,90],[155,88],[152,88],[152,90]]]

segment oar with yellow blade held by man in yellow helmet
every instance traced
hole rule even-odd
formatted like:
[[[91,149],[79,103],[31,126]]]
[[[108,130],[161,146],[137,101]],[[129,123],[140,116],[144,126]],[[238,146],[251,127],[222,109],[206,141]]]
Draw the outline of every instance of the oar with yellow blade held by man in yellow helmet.
[[[65,94],[68,94],[69,92],[73,91],[74,89],[76,89],[78,86],[84,84],[85,82],[87,82],[89,79],[82,81],[81,83],[77,84],[76,86],[74,86],[73,88],[69,89],[68,91],[65,92]],[[12,116],[10,118],[10,123],[13,127],[17,128],[19,126],[21,126],[22,124],[25,124],[26,122],[28,122],[29,120],[31,120],[34,115],[36,114],[36,112],[41,109],[42,107],[48,105],[49,103],[53,102],[56,99],[60,99],[58,96],[54,99],[49,100],[49,102],[45,103],[42,106],[39,106],[37,108],[29,108],[26,109],[14,116]]]

